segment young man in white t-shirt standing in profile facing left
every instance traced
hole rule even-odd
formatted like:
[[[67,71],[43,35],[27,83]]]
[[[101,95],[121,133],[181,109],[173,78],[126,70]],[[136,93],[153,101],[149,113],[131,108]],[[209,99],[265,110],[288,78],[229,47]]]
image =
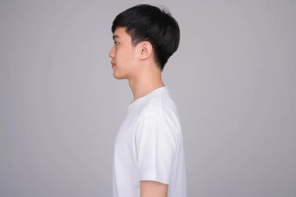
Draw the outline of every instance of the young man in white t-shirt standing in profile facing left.
[[[186,197],[179,114],[161,79],[179,46],[178,23],[141,4],[118,14],[111,30],[113,76],[128,79],[134,95],[114,143],[113,197]]]

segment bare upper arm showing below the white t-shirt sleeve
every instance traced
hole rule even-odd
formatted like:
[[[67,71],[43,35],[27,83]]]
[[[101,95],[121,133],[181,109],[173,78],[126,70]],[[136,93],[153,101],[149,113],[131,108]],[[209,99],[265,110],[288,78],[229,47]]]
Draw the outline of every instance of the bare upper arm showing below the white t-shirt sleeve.
[[[167,197],[168,185],[156,181],[140,181],[140,197]]]

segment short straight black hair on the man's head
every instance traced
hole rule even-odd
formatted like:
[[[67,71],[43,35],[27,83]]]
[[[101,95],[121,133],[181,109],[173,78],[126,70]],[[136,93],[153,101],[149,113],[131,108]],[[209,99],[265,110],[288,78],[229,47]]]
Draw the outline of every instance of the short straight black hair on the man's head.
[[[163,70],[168,59],[177,51],[180,28],[170,11],[149,4],[139,4],[118,14],[111,27],[126,28],[133,46],[142,41],[151,43],[156,65]]]

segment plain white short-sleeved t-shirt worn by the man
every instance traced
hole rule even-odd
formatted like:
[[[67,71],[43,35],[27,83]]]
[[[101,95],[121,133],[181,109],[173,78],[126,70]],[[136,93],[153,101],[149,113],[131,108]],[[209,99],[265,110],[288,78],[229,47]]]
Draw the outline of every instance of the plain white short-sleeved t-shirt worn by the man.
[[[113,197],[140,197],[140,181],[169,185],[168,197],[186,197],[183,136],[166,86],[135,100],[114,143]]]

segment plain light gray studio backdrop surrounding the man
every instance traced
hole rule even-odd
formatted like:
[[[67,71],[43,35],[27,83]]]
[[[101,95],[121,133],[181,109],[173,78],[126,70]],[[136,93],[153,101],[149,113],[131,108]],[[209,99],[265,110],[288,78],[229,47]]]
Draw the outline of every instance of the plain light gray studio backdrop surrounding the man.
[[[143,2],[182,31],[163,78],[188,197],[295,197],[295,0],[1,0],[0,197],[111,197],[132,100],[112,76],[111,22]]]

